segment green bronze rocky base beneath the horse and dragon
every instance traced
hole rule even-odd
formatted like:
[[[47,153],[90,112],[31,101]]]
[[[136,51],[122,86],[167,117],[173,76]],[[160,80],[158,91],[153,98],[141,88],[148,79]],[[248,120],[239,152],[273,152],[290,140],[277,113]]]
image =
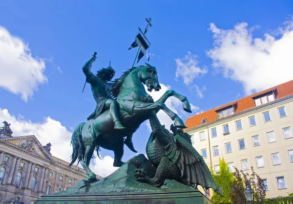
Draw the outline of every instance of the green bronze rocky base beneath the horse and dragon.
[[[160,188],[136,181],[135,171],[141,168],[149,177],[156,171],[140,154],[100,181],[80,181],[68,190],[43,195],[36,204],[212,204],[197,189],[178,181],[166,180]]]

